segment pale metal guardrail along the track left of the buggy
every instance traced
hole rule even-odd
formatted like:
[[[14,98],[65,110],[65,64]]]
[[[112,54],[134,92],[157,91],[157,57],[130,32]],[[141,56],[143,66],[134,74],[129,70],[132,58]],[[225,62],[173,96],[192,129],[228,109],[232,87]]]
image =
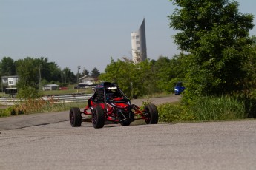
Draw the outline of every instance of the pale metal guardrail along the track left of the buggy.
[[[45,101],[57,101],[58,103],[72,103],[72,102],[85,102],[89,98],[91,98],[93,94],[74,94],[74,95],[51,95],[42,97]],[[0,98],[1,105],[14,105],[23,101],[23,99],[19,98]]]

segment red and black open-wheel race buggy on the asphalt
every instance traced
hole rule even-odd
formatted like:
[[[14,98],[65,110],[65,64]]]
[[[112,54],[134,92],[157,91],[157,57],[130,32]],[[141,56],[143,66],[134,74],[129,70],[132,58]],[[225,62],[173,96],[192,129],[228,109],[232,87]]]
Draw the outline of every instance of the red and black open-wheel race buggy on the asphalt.
[[[129,126],[134,120],[144,119],[147,124],[158,123],[157,107],[149,103],[141,110],[131,104],[119,86],[110,82],[96,85],[93,96],[88,99],[88,106],[81,112],[73,107],[69,113],[70,124],[81,126],[82,121],[91,120],[94,128],[102,128],[105,121]]]

